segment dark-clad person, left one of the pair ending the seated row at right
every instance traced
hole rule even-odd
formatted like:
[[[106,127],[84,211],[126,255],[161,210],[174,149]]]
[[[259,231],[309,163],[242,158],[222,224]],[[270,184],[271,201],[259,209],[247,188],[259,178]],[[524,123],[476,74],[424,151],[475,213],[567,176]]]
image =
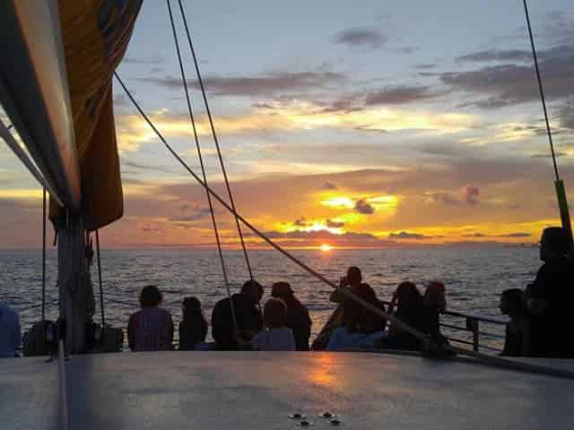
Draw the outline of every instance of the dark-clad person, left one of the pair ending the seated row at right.
[[[424,331],[422,295],[413,282],[401,282],[396,288],[388,312],[392,313],[403,323],[418,331]],[[403,331],[396,323],[391,323],[388,330],[388,338],[384,341],[384,347],[396,349],[419,350],[420,341],[412,334]]]

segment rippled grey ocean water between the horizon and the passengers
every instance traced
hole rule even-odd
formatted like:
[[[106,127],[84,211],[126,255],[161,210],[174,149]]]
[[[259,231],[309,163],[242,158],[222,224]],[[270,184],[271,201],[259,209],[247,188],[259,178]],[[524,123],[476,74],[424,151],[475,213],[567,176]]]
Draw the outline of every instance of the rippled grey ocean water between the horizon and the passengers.
[[[526,287],[534,279],[539,266],[537,249],[517,246],[306,250],[294,251],[293,254],[335,282],[344,276],[348,266],[359,266],[364,280],[377,291],[379,298],[385,300],[390,300],[396,285],[402,280],[412,280],[421,288],[429,280],[442,280],[447,286],[448,310],[492,316],[500,316],[500,292],[506,288]],[[224,256],[231,288],[237,290],[243,281],[248,280],[243,254],[226,251]],[[328,301],[331,288],[274,251],[251,251],[249,256],[255,278],[265,286],[264,300],[275,281],[290,282],[300,301],[309,307],[313,334],[320,331],[335,308]],[[57,318],[56,258],[56,253],[50,250],[47,316],[52,319]],[[139,291],[145,285],[154,284],[161,288],[164,307],[171,312],[176,324],[181,318],[183,297],[198,297],[208,321],[213,305],[226,297],[221,265],[215,251],[102,250],[101,265],[106,322],[117,327],[126,328],[129,315],[138,307]],[[100,297],[95,265],[92,280],[97,298],[94,319],[99,321]],[[39,250],[0,251],[0,300],[21,312],[23,330],[40,320]],[[500,327],[489,328],[495,333],[501,332]],[[458,337],[468,339],[468,333],[461,333]],[[500,340],[487,340],[486,343],[489,342],[500,346]]]

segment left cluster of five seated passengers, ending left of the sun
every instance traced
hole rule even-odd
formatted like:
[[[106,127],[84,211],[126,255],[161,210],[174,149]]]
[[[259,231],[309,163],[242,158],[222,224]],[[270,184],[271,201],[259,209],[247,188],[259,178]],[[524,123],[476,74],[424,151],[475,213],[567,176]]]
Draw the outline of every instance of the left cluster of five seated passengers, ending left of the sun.
[[[248,280],[239,293],[219,301],[213,308],[214,346],[205,343],[208,324],[196,297],[182,303],[183,319],[179,323],[180,350],[309,350],[311,319],[287,282],[274,284],[271,296],[259,308],[263,287]],[[143,288],[141,309],[132,314],[127,338],[132,351],[170,350],[174,326],[171,315],[161,307],[162,296],[155,286]]]

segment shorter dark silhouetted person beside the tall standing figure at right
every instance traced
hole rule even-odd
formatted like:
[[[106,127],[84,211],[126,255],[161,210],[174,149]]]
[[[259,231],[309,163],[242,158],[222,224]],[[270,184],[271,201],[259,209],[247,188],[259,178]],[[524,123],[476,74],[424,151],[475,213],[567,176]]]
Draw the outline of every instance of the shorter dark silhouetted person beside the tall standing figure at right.
[[[519,288],[504,290],[500,296],[500,312],[510,317],[502,355],[527,357],[530,353],[530,322],[526,315],[524,291]]]

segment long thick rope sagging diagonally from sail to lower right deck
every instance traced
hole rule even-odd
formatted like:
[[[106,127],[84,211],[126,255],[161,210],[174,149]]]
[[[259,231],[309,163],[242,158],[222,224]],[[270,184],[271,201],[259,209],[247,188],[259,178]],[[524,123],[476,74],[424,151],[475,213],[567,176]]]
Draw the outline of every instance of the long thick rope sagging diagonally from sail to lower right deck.
[[[120,79],[117,72],[114,72],[114,76],[116,77],[117,82],[119,82],[119,84],[124,89],[124,91],[126,91],[126,95],[127,95],[128,99],[130,99],[130,101],[132,102],[134,107],[137,109],[139,114],[143,117],[143,120],[150,126],[150,128],[152,128],[152,131],[157,135],[157,137],[160,139],[160,141],[163,143],[163,145],[166,147],[166,149],[170,151],[171,155],[173,155],[173,157],[178,160],[179,164],[181,164],[181,166],[187,170],[189,175],[193,176],[194,179],[196,179],[196,182],[199,185],[203,186],[204,189],[208,193],[210,193],[215,200],[220,202],[225,209],[227,209],[228,211],[233,213],[237,217],[237,219],[239,219],[239,221],[241,221],[243,223],[243,225],[245,225],[247,228],[249,228],[257,236],[261,237],[268,245],[271,245],[275,250],[277,250],[279,253],[283,254],[285,257],[287,257],[289,260],[291,260],[291,262],[294,262],[295,264],[300,266],[301,269],[308,271],[311,275],[313,275],[315,278],[317,278],[317,280],[321,280],[322,282],[326,283],[326,285],[329,285],[332,288],[336,288],[345,297],[347,297],[347,298],[355,301],[356,303],[362,305],[365,309],[368,309],[373,314],[377,314],[378,316],[385,318],[390,323],[396,324],[396,326],[398,328],[400,328],[401,330],[403,330],[409,334],[412,334],[416,339],[421,340],[424,343],[430,344],[431,346],[433,346],[433,345],[436,346],[436,342],[434,340],[432,340],[425,333],[422,333],[421,331],[413,329],[413,327],[411,327],[410,325],[408,325],[406,323],[403,323],[401,320],[396,318],[394,315],[387,314],[387,313],[381,311],[377,306],[371,305],[370,303],[361,299],[361,297],[358,297],[355,294],[353,294],[348,288],[339,288],[339,286],[337,284],[335,284],[335,282],[333,282],[331,280],[327,280],[325,276],[321,275],[317,271],[314,271],[307,264],[305,264],[304,262],[301,262],[297,257],[295,257],[294,255],[292,255],[289,252],[287,252],[286,250],[284,250],[281,247],[281,245],[276,244],[274,242],[274,240],[267,237],[264,233],[262,233],[255,226],[253,226],[247,219],[244,219],[241,215],[239,215],[238,212],[234,211],[230,207],[230,205],[227,202],[225,202],[218,193],[215,193],[212,188],[210,188],[208,185],[206,185],[204,183],[204,181],[202,181],[202,179],[199,176],[197,176],[196,172],[194,172],[191,168],[189,168],[187,163],[178,155],[178,153],[175,150],[173,150],[170,143],[168,143],[166,141],[166,139],[163,137],[161,132],[152,123],[152,120],[149,118],[149,116],[147,116],[145,114],[145,112],[143,112],[143,108],[139,105],[137,100],[135,100],[132,93],[127,89],[126,84]],[[489,356],[489,355],[486,355],[486,354],[483,354],[480,352],[470,351],[470,350],[467,350],[464,348],[457,348],[457,347],[453,347],[451,345],[445,345],[444,348],[447,350],[456,352],[457,354],[460,354],[460,355],[464,355],[467,357],[473,357],[473,358],[479,360],[481,363],[483,363],[484,365],[487,365],[487,366],[495,366],[495,367],[507,368],[507,369],[512,369],[512,370],[519,370],[519,371],[530,372],[530,373],[535,373],[535,374],[548,374],[548,375],[552,375],[552,376],[560,376],[560,377],[569,378],[569,379],[574,380],[574,373],[567,371],[567,370],[555,369],[555,368],[547,367],[547,366],[539,366],[539,365],[530,364],[530,363],[526,363],[526,362],[517,362],[514,360],[509,360],[509,359],[504,358],[504,357],[492,357],[492,356]]]

